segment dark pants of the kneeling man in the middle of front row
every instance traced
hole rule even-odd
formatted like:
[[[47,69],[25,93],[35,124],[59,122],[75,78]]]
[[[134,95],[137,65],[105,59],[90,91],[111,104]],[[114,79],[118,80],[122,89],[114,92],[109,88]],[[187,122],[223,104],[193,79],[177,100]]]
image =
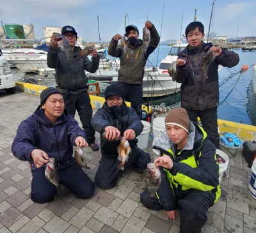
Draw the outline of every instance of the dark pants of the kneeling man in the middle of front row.
[[[129,160],[125,163],[125,168],[133,167],[134,169],[146,169],[147,164],[151,162],[150,154],[145,153],[138,147],[132,149]],[[117,158],[109,158],[102,155],[99,169],[95,176],[95,184],[103,189],[109,189],[116,186],[118,173],[117,168],[120,161]]]

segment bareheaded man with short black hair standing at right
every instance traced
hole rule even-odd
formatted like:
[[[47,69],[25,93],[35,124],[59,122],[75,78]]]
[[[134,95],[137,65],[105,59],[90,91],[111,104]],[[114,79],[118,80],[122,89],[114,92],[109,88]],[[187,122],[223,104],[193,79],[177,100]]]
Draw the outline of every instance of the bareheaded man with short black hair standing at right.
[[[233,67],[239,63],[239,56],[212,43],[204,43],[204,25],[191,22],[186,27],[186,38],[189,45],[178,54],[177,76],[175,80],[181,85],[181,105],[187,110],[189,119],[197,122],[200,117],[204,130],[211,142],[220,149],[218,133],[217,107],[219,103],[218,66]],[[201,61],[205,54],[212,50],[216,58],[209,65],[207,79],[202,71]]]

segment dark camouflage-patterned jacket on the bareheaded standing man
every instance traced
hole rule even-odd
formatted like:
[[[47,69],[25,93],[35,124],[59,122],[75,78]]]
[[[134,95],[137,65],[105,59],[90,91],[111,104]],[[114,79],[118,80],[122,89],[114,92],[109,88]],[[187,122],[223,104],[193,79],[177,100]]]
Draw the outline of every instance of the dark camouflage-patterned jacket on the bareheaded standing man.
[[[175,80],[181,85],[181,105],[185,109],[205,110],[216,107],[219,103],[219,64],[225,67],[233,67],[239,63],[239,56],[235,52],[222,49],[219,56],[209,65],[204,79],[201,70],[202,57],[212,47],[212,43],[201,43],[199,47],[190,49],[189,45],[178,57],[186,60],[184,66],[177,66]]]

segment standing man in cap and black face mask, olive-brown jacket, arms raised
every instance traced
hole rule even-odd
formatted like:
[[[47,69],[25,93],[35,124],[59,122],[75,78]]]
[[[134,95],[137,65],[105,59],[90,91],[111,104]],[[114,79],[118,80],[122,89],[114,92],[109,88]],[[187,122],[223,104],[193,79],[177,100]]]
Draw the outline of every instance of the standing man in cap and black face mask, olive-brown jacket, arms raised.
[[[134,25],[125,28],[127,38],[127,48],[118,45],[118,40],[122,38],[116,34],[109,43],[108,54],[113,57],[120,57],[120,69],[118,70],[118,84],[124,89],[124,98],[131,101],[134,108],[141,118],[142,110],[142,82],[144,76],[144,66],[148,56],[156,49],[160,37],[156,27],[152,22],[146,21],[145,27],[150,31],[150,43],[144,53],[141,49],[143,41],[139,39],[138,27]]]

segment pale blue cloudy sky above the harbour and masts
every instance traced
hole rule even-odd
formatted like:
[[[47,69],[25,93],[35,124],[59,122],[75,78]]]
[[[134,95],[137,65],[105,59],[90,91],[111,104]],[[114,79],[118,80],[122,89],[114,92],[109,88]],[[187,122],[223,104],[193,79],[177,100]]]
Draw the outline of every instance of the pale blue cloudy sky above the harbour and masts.
[[[164,6],[164,8],[163,8]],[[116,33],[124,33],[124,16],[127,24],[139,30],[145,21],[156,26],[161,41],[179,39],[183,12],[182,33],[194,20],[195,8],[198,21],[207,33],[212,0],[12,0],[1,1],[0,20],[4,24],[30,24],[35,26],[36,39],[44,37],[43,26],[74,26],[86,41],[110,40]],[[221,36],[256,36],[256,1],[216,0],[212,30]],[[163,25],[161,24],[163,15]],[[161,30],[162,25],[162,30]]]

